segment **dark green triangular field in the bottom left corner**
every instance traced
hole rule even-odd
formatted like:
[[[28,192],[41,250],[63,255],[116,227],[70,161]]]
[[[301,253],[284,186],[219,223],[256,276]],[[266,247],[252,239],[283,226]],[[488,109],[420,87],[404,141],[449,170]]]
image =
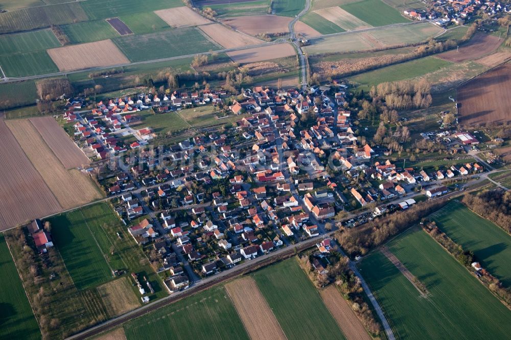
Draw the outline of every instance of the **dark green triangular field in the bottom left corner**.
[[[25,289],[12,260],[4,235],[0,235],[0,338],[40,339]]]

